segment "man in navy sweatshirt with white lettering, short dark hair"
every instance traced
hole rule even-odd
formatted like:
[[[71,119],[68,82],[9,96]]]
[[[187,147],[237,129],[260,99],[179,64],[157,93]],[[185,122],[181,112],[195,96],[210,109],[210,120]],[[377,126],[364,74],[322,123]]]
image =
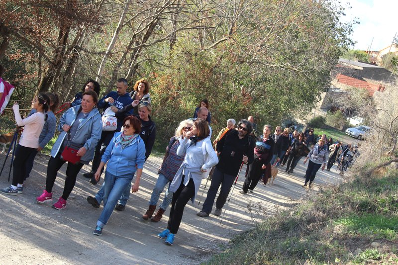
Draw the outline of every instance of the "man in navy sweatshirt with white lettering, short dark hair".
[[[123,109],[124,106],[131,104],[133,100],[127,93],[127,80],[124,78],[120,78],[116,82],[116,91],[110,91],[104,97],[102,97],[98,101],[98,108],[103,108],[104,110],[108,107],[112,108],[112,111],[115,112],[115,117],[117,119],[117,127],[114,131],[102,131],[101,139],[97,144],[96,151],[94,153],[93,166],[91,168],[91,172],[83,174],[84,177],[90,178],[90,182],[92,184],[97,184],[97,180],[94,177],[94,172],[97,171],[100,166],[101,157],[105,152],[106,147],[108,146],[110,140],[112,140],[115,132],[120,132],[121,126],[123,124],[123,120],[125,117],[132,115],[133,110],[119,113],[117,110]],[[103,169],[102,169],[103,172]]]

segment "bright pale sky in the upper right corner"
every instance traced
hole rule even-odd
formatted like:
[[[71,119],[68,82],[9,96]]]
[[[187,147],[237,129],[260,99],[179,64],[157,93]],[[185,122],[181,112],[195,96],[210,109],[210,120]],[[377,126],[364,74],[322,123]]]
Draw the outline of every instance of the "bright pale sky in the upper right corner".
[[[367,50],[373,43],[371,50],[379,51],[386,48],[393,41],[398,32],[398,0],[347,0],[343,6],[351,6],[346,9],[346,17],[343,20],[358,18],[359,24],[354,25],[351,38],[357,42],[355,50]],[[398,35],[398,33],[397,33]]]

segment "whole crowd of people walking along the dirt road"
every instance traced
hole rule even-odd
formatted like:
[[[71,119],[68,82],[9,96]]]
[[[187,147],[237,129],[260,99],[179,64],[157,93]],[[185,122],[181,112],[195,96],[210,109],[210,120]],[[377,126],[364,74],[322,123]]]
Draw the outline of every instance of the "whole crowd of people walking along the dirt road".
[[[67,163],[63,193],[52,205],[57,210],[65,209],[82,167],[92,162],[91,171],[83,176],[95,185],[100,181],[106,165],[100,190],[95,196],[87,197],[87,201],[95,208],[100,208],[103,203],[103,210],[93,232],[97,236],[102,235],[114,209],[125,209],[130,189],[131,192],[139,190],[143,166],[151,154],[156,137],[156,124],[150,116],[152,105],[148,82],[137,81],[131,93],[127,92],[128,83],[125,79],[117,80],[116,87],[116,91],[99,99],[100,85],[89,80],[83,91],[77,93],[72,102],[68,102],[70,108],[63,113],[57,126],[60,134],[51,149],[45,188],[36,198],[38,203],[53,200],[56,177],[62,165]],[[32,100],[33,110],[25,119],[20,116],[18,103],[13,105],[15,120],[18,126],[24,126],[24,130],[15,150],[12,184],[0,189],[1,193],[17,195],[23,192],[23,184],[29,177],[35,155],[54,136],[54,112],[58,104],[56,94],[38,93]],[[208,217],[214,201],[214,215],[219,216],[244,164],[248,170],[240,191],[243,194],[253,192],[261,177],[266,182],[271,177],[273,166],[287,163],[286,171],[293,173],[299,158],[307,149],[308,138],[313,135],[311,130],[307,136],[297,131],[291,133],[289,128],[282,131],[280,126],[271,134],[272,126],[267,124],[263,127],[263,134],[255,136],[253,130],[257,129],[257,125],[250,117],[248,120],[240,120],[236,128],[235,120],[229,119],[227,127],[211,143],[208,107],[207,99],[203,99],[193,118],[181,121],[176,128],[158,171],[159,177],[148,210],[142,216],[144,220],[159,222],[171,204],[167,227],[158,234],[169,245],[174,243],[186,204],[190,200],[195,201],[202,178],[208,177],[211,172],[211,184],[198,216]],[[107,114],[101,115],[99,109],[105,110],[104,113]],[[342,152],[340,145],[332,145],[329,162],[336,160],[338,153]],[[68,157],[68,150],[75,150],[73,160]],[[307,160],[309,162],[304,186],[307,182],[309,186],[312,184],[321,166],[322,170],[325,168],[328,156],[325,139],[319,139],[307,153],[304,164]],[[165,196],[154,215],[166,185]],[[220,186],[220,193],[215,199]]]

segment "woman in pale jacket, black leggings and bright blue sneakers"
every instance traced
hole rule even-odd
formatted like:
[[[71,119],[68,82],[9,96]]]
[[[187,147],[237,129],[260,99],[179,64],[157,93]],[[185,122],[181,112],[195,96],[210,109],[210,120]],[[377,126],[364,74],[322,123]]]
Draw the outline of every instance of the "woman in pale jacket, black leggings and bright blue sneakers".
[[[209,134],[207,122],[197,119],[177,149],[177,155],[182,155],[185,151],[186,155],[169,187],[169,191],[174,194],[167,229],[158,234],[158,237],[166,238],[165,243],[169,245],[174,243],[174,235],[180,227],[185,205],[190,199],[192,203],[195,201],[203,173],[218,163],[208,138]]]

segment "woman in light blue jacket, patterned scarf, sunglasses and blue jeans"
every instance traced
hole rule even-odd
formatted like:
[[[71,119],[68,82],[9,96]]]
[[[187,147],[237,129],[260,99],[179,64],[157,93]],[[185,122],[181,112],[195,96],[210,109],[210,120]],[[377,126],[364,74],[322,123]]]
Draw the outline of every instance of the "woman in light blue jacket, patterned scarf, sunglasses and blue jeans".
[[[123,132],[115,133],[113,139],[103,153],[100,166],[94,177],[99,180],[101,170],[108,162],[103,184],[103,210],[97,221],[93,234],[100,236],[103,226],[108,222],[110,215],[120,198],[121,193],[131,182],[137,170],[137,177],[132,192],[137,192],[145,162],[145,144],[139,136],[141,122],[134,116],[128,116],[123,121]],[[95,200],[95,198],[93,198]]]

